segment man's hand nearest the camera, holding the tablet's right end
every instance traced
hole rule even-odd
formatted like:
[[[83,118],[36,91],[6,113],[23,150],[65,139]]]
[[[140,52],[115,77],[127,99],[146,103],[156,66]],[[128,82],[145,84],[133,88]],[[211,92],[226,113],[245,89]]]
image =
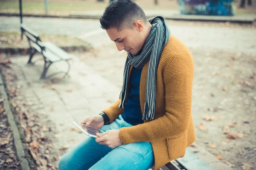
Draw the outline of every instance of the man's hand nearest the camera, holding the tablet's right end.
[[[117,129],[107,130],[104,133],[96,133],[96,135],[99,137],[95,138],[96,142],[99,142],[99,144],[102,142],[102,144],[112,149],[123,144],[120,139],[119,130]]]

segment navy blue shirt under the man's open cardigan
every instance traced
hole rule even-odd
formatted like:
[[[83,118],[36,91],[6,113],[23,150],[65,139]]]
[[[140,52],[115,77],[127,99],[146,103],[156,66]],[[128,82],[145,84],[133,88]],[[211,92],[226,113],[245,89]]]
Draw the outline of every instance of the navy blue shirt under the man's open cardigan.
[[[142,68],[131,69],[130,75],[130,91],[127,97],[127,102],[124,108],[124,114],[122,118],[125,122],[128,122],[131,125],[139,125],[144,123],[142,119],[142,112],[140,108],[140,77],[141,77]]]

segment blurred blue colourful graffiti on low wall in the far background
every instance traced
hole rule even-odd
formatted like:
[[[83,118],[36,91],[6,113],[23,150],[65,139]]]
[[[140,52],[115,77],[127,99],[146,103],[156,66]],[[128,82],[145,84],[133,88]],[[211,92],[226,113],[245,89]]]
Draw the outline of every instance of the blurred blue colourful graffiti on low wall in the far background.
[[[224,15],[236,14],[236,0],[179,0],[180,14]]]

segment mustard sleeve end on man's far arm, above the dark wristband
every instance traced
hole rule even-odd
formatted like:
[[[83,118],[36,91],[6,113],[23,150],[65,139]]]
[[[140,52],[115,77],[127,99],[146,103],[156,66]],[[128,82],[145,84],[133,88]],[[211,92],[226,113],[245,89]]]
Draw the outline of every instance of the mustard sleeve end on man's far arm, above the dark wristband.
[[[118,99],[109,108],[102,111],[108,115],[110,123],[112,123],[116,118],[118,118],[119,114],[122,114],[124,111],[123,108],[119,108],[120,102],[121,99]]]

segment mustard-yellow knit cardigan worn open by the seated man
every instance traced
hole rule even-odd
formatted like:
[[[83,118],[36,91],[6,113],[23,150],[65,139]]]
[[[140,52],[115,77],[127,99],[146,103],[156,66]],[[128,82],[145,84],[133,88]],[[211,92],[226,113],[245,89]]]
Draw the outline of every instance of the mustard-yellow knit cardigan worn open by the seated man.
[[[144,65],[140,79],[140,105],[145,105],[146,77],[149,61]],[[132,67],[131,67],[132,68]],[[130,69],[131,73],[131,69]],[[119,129],[123,144],[151,142],[154,152],[154,170],[169,161],[183,157],[186,147],[195,141],[191,114],[194,64],[188,48],[173,35],[163,48],[157,68],[156,112],[154,120]],[[129,91],[129,87],[128,91]],[[103,110],[112,123],[123,108],[118,99]]]

